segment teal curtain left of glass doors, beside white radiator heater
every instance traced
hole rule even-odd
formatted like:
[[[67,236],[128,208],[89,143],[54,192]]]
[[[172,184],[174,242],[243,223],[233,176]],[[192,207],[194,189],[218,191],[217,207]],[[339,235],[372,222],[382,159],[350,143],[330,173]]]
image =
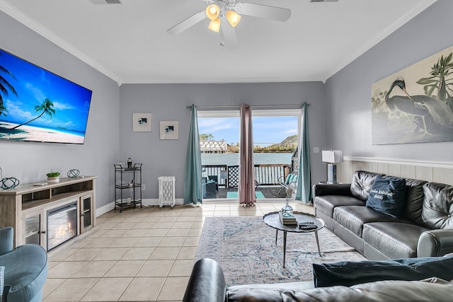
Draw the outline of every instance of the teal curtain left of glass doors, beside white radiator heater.
[[[192,105],[190,112],[189,141],[185,157],[184,204],[202,203],[201,151],[198,132],[197,108]]]

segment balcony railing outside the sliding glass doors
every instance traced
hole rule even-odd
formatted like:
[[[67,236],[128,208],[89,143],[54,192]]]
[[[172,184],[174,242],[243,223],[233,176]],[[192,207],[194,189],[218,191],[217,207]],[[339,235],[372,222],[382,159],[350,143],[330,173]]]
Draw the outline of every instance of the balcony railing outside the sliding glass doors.
[[[259,185],[278,185],[282,176],[290,173],[290,166],[284,163],[254,165],[255,180]],[[237,187],[239,185],[239,165],[202,165],[208,176],[216,175],[219,187]]]

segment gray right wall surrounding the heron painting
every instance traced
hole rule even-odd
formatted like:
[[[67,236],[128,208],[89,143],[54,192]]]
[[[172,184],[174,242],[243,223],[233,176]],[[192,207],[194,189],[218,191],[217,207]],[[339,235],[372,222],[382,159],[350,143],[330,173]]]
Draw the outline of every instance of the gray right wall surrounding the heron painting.
[[[452,161],[453,142],[372,145],[371,85],[453,45],[453,1],[440,0],[326,82],[328,141],[345,156]]]

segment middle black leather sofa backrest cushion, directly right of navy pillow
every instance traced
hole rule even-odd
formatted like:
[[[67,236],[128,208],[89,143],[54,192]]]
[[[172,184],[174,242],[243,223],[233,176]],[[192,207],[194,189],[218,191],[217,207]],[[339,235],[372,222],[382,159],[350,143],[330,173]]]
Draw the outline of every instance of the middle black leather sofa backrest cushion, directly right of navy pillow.
[[[404,203],[403,215],[418,224],[422,224],[422,207],[425,198],[423,185],[425,183],[425,180],[406,178],[406,202]]]

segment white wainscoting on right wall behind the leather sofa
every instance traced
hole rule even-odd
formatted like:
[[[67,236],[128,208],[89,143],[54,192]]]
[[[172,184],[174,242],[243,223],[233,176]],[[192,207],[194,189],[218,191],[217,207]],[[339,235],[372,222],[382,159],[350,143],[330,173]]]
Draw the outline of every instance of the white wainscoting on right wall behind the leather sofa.
[[[453,162],[345,156],[343,163],[338,163],[338,181],[350,183],[356,170],[453,185]]]

